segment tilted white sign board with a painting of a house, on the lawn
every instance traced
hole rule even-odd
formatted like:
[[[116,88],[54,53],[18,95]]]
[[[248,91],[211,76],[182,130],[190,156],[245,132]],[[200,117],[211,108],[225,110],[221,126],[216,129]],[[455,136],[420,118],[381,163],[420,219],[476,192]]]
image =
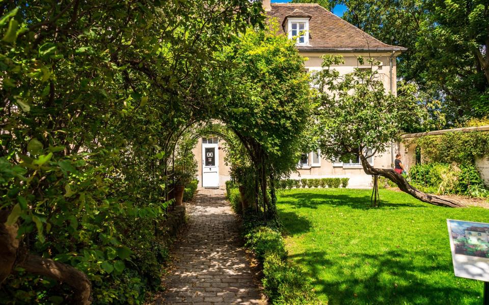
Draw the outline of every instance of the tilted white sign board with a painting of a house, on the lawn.
[[[456,277],[489,282],[489,224],[447,219]]]

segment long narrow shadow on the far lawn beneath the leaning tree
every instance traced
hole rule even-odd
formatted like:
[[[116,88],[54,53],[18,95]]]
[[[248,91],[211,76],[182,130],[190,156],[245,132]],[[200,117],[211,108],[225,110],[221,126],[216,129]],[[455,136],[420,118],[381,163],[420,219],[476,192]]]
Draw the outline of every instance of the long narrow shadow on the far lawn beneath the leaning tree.
[[[383,198],[384,197],[384,198]],[[287,200],[288,198],[294,200]],[[401,199],[402,200],[402,199]],[[370,196],[351,196],[351,195],[335,195],[335,194],[320,194],[320,193],[294,193],[294,194],[282,194],[279,203],[289,204],[297,208],[318,208],[319,205],[330,206],[349,206],[354,209],[371,209],[371,208],[397,208],[397,207],[418,207],[424,208],[426,206],[416,202],[399,202],[398,198],[386,198],[381,197],[380,207],[372,207],[370,202]]]

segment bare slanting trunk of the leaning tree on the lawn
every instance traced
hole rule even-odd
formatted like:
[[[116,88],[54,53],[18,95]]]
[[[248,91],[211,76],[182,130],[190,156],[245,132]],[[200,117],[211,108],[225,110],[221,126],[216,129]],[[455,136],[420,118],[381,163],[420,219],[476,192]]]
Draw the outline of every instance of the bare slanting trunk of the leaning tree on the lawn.
[[[437,196],[432,196],[429,194],[425,194],[415,188],[413,188],[404,177],[398,173],[396,173],[393,169],[382,169],[382,168],[374,168],[368,163],[367,159],[363,154],[360,154],[360,159],[362,160],[363,170],[367,175],[379,175],[385,177],[392,182],[394,182],[397,187],[402,192],[408,193],[416,199],[419,199],[423,202],[439,205],[439,206],[450,206],[450,207],[464,207],[463,204],[454,202],[451,200],[442,199]]]

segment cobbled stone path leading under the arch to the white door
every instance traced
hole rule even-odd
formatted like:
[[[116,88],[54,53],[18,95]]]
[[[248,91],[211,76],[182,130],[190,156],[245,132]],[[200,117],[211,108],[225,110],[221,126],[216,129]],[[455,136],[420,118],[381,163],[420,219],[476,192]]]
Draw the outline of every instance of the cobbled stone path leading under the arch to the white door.
[[[165,304],[266,304],[223,190],[199,189],[186,205],[186,229],[175,241]],[[158,302],[157,302],[158,303]]]

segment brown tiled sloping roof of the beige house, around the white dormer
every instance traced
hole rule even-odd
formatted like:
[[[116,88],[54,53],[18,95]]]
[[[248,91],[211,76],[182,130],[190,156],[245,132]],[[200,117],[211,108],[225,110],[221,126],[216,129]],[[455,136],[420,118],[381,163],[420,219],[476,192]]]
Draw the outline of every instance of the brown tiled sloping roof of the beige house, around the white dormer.
[[[318,4],[311,3],[272,3],[267,12],[269,18],[277,18],[284,24],[287,17],[309,19],[309,45],[297,46],[300,51],[405,51],[406,48],[391,46],[375,39],[358,27],[346,22]],[[285,34],[284,27],[279,34]]]

